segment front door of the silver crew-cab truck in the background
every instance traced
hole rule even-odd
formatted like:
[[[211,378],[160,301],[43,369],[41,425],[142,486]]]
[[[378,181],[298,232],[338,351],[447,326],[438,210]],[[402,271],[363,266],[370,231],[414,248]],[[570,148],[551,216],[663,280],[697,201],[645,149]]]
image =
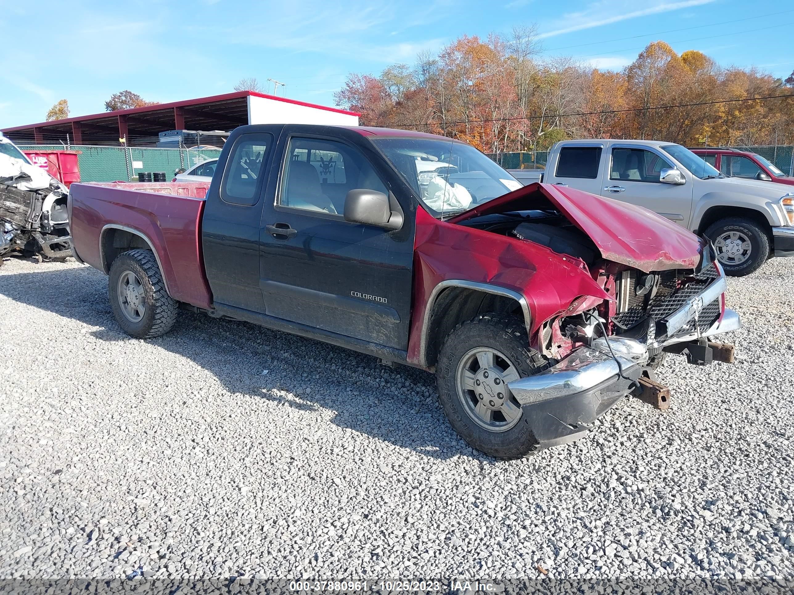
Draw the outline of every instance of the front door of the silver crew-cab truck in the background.
[[[687,227],[692,215],[692,180],[675,186],[659,181],[661,170],[674,167],[665,156],[637,145],[610,148],[608,179],[601,196],[644,206]]]

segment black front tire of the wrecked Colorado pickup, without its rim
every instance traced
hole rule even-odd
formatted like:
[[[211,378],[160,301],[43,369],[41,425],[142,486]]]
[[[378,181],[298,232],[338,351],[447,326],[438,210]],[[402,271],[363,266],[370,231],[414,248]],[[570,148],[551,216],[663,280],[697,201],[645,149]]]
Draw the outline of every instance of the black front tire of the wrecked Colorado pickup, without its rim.
[[[446,337],[436,365],[438,399],[449,423],[463,440],[495,459],[518,459],[538,447],[526,415],[509,430],[490,432],[468,416],[458,396],[457,366],[474,347],[491,347],[507,356],[524,378],[545,370],[549,363],[529,347],[526,327],[515,316],[488,313],[458,324]]]

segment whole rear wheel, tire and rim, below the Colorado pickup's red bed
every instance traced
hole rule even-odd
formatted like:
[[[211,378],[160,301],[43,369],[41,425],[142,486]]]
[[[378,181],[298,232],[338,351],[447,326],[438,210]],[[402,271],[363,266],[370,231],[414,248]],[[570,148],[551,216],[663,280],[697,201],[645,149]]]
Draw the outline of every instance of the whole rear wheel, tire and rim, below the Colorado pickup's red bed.
[[[118,325],[137,339],[164,335],[176,320],[179,303],[166,292],[150,250],[118,255],[110,267],[108,297]]]

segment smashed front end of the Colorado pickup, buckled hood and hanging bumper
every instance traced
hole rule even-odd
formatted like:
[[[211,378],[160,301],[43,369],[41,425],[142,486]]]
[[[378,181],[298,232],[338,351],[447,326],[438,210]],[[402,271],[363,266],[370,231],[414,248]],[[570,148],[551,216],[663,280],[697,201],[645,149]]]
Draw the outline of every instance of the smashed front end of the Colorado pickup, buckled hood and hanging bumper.
[[[654,375],[663,352],[732,363],[733,346],[710,340],[739,328],[714,250],[665,218],[534,185],[451,221],[556,253],[522,286],[533,306],[530,347],[551,366],[507,384],[539,447],[584,436],[622,397],[666,409],[669,389]],[[555,270],[560,260],[566,267]],[[577,297],[563,299],[572,286]]]

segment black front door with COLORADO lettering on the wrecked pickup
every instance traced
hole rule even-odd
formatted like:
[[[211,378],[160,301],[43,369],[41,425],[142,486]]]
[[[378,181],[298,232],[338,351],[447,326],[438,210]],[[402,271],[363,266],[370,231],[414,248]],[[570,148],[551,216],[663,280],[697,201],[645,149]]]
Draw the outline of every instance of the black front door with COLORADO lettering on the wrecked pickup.
[[[407,349],[413,217],[396,231],[345,221],[349,190],[390,191],[353,144],[302,134],[279,145],[260,224],[265,313]]]

